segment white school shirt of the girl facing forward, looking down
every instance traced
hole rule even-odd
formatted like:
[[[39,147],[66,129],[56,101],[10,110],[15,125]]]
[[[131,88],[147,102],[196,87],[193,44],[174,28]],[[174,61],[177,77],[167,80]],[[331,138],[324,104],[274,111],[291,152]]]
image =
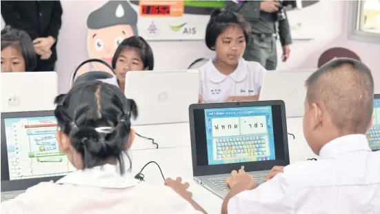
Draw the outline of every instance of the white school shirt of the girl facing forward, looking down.
[[[199,95],[206,103],[224,102],[231,96],[259,95],[266,69],[256,61],[239,59],[236,70],[223,75],[214,66],[214,57],[198,68],[201,83]]]

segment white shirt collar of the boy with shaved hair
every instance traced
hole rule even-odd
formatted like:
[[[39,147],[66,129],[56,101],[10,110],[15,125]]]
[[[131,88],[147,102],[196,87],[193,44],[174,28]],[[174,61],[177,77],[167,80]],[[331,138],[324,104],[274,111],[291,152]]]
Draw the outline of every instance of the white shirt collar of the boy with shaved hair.
[[[319,157],[330,159],[356,151],[371,151],[366,135],[346,135],[333,139],[321,148]]]

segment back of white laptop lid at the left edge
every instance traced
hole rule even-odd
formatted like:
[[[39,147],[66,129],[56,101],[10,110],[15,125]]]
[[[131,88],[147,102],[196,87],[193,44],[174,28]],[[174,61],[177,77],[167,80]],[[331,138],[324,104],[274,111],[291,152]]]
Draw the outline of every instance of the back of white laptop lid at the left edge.
[[[54,110],[56,72],[2,72],[1,113]]]

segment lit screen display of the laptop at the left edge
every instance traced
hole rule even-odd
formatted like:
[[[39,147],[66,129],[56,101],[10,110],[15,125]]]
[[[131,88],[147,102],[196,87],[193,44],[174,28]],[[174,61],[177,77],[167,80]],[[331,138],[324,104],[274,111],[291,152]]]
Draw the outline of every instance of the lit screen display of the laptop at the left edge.
[[[55,117],[4,119],[10,179],[67,175],[74,168],[57,145]]]

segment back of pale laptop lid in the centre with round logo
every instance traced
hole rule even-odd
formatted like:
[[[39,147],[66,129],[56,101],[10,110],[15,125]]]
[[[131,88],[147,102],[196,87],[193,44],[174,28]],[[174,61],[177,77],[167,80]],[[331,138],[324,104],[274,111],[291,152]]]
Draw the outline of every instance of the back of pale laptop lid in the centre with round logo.
[[[199,99],[199,71],[130,71],[125,93],[139,108],[134,126],[188,122],[188,108]]]

